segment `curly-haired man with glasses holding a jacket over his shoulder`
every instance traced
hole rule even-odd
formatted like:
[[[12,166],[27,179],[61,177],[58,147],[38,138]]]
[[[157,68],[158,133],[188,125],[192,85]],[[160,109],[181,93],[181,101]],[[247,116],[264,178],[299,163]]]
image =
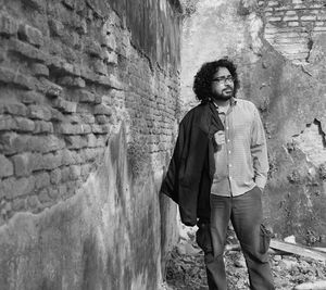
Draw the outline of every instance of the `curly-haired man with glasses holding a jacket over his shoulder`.
[[[236,99],[239,80],[227,59],[205,63],[193,91],[201,101],[180,123],[162,192],[179,205],[181,222],[197,225],[210,290],[226,290],[224,245],[231,222],[246,259],[250,289],[275,289],[269,235],[262,225],[268,172],[266,140],[253,103]]]

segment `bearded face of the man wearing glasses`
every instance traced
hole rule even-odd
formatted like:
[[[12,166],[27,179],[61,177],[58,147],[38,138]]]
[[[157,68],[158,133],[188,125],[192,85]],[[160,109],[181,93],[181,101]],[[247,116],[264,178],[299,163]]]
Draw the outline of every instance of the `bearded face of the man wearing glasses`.
[[[235,84],[230,72],[226,67],[218,67],[212,79],[212,94],[214,100],[226,101],[234,96]]]

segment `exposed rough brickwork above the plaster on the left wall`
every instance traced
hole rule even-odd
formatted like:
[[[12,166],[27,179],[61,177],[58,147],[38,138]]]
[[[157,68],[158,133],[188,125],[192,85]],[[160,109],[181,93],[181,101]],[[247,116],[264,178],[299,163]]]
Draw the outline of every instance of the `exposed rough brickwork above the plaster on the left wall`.
[[[177,63],[147,58],[109,2],[1,4],[0,225],[74,196],[121,122],[135,174],[143,162],[165,165]]]

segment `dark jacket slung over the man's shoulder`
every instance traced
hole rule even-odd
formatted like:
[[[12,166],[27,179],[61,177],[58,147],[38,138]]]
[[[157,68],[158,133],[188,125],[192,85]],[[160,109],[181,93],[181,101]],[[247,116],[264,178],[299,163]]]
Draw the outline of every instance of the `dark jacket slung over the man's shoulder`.
[[[174,153],[161,192],[173,199],[181,222],[195,226],[197,218],[210,219],[210,193],[215,173],[214,134],[223,130],[212,102],[190,110],[179,125]]]

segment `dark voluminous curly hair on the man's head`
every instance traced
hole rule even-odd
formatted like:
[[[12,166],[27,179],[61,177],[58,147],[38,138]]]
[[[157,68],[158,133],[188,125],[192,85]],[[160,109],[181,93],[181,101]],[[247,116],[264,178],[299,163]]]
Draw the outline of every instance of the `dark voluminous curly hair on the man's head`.
[[[212,79],[218,67],[226,67],[234,77],[236,96],[238,89],[240,88],[237,67],[231,61],[229,61],[227,58],[224,58],[218,61],[204,63],[196,74],[192,90],[198,100],[206,102],[212,99]]]

